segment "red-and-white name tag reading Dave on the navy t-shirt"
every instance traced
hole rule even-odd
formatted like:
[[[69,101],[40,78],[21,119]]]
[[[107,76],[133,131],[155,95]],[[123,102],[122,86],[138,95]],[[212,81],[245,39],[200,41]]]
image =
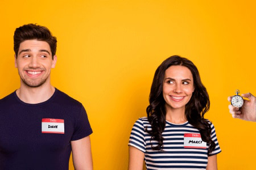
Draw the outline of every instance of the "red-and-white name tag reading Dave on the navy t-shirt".
[[[56,118],[42,119],[42,133],[61,133],[64,134],[64,120]]]

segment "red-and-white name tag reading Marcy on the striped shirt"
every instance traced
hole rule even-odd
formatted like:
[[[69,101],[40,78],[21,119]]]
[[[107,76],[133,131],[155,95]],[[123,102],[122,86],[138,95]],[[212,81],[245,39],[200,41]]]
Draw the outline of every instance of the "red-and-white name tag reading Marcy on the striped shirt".
[[[201,134],[185,133],[184,148],[207,148],[207,143],[202,141]]]

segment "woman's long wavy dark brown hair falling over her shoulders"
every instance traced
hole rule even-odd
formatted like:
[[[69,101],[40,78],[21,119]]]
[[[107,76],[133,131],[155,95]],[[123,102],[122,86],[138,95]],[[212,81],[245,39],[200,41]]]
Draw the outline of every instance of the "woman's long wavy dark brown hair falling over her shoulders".
[[[187,58],[180,56],[171,56],[164,60],[156,69],[154,79],[150,91],[150,105],[147,107],[147,118],[152,129],[146,129],[151,134],[151,141],[157,141],[157,146],[152,146],[153,150],[163,149],[163,131],[166,127],[166,101],[163,98],[163,81],[164,74],[170,66],[185,66],[193,75],[193,86],[195,88],[191,99],[185,105],[185,116],[189,124],[199,129],[201,138],[209,144],[208,153],[212,152],[216,147],[210,138],[211,130],[208,120],[204,118],[204,114],[209,111],[210,100],[206,88],[201,82],[197,67]]]

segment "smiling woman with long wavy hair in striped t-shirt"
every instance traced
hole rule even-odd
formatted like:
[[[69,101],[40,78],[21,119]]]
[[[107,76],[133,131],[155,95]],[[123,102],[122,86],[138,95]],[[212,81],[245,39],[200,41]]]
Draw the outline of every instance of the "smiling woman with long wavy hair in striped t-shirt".
[[[217,169],[221,152],[213,124],[205,120],[209,96],[199,71],[179,56],[156,70],[147,117],[139,118],[129,140],[129,169]]]

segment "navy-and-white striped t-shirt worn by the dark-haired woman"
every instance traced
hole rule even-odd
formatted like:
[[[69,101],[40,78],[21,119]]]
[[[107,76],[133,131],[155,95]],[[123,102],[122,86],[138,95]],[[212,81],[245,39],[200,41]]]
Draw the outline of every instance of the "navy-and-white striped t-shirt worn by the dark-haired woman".
[[[188,122],[184,124],[171,124],[166,121],[163,135],[163,150],[152,150],[158,143],[151,141],[151,135],[146,132],[146,127],[151,130],[147,117],[139,118],[131,130],[129,145],[144,152],[147,169],[206,169],[208,156],[221,152],[218,145],[214,126],[211,138],[216,147],[210,155],[207,154],[209,145],[201,141],[200,132]]]

